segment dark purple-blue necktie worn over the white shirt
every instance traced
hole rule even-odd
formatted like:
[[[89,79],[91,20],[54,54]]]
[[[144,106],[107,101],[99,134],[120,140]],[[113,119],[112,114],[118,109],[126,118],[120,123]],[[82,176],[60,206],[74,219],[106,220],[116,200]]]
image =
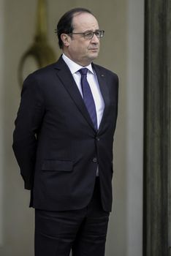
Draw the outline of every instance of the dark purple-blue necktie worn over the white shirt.
[[[78,71],[81,74],[81,86],[82,86],[82,91],[83,91],[83,100],[85,102],[88,113],[91,116],[91,120],[93,121],[94,127],[97,130],[96,106],[94,103],[93,94],[91,93],[91,88],[90,88],[88,80],[87,80],[88,69],[83,68]]]

